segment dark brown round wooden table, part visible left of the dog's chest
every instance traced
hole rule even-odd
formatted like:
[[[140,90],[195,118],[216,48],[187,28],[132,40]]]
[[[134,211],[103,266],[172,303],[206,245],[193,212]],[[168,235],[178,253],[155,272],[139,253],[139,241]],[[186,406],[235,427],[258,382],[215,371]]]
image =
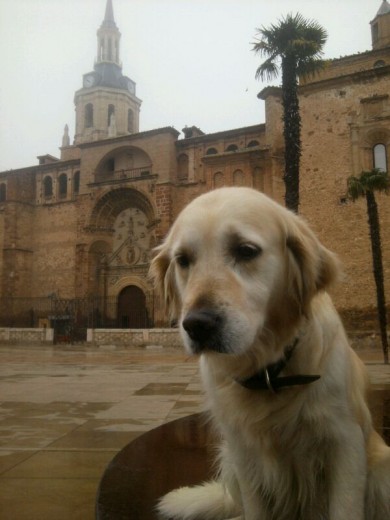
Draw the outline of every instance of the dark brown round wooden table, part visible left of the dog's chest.
[[[215,438],[206,417],[163,424],[125,446],[110,462],[96,501],[98,520],[155,520],[157,500],[168,491],[213,475]]]

